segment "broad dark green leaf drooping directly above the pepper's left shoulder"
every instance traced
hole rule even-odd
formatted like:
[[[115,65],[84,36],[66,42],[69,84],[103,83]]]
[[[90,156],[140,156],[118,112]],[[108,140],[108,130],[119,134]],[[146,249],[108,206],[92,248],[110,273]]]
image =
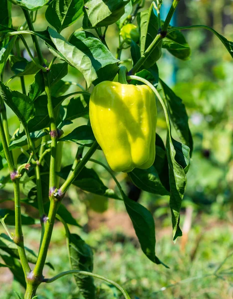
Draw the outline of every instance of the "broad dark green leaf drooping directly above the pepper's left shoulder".
[[[106,72],[108,73],[106,66],[109,66],[110,69],[113,68],[115,70],[115,74],[111,74],[111,76],[116,76],[118,67],[113,67],[112,65],[119,60],[112,55],[109,49],[101,42],[99,38],[90,32],[76,30],[71,35],[69,42],[90,58],[92,66],[94,67],[98,78],[101,79],[101,81],[109,80],[107,76],[101,77],[98,74],[98,71],[103,67],[105,67],[103,74]],[[99,82],[100,81],[98,81],[98,83]]]

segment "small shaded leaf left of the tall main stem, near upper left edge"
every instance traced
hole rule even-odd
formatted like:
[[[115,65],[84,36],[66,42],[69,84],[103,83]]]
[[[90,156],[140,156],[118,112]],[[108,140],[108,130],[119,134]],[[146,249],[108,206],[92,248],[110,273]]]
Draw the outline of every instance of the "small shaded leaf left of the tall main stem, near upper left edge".
[[[35,58],[37,60],[37,58]],[[39,71],[37,65],[32,61],[27,61],[23,57],[9,55],[9,65],[11,71],[15,74],[11,79],[17,76],[33,75]]]

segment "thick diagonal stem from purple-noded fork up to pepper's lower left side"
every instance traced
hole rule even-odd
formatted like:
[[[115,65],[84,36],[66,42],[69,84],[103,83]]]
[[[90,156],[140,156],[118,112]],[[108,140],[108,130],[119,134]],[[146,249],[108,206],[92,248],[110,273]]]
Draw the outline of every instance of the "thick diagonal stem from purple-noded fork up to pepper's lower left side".
[[[89,158],[92,156],[92,154],[98,149],[98,143],[95,141],[91,148],[87,151],[85,156],[81,159],[81,161],[77,164],[77,166],[74,168],[72,174],[66,179],[66,181],[63,183],[63,185],[60,188],[60,191],[62,194],[64,194],[69,186],[73,183],[77,175],[81,172],[83,167],[86,165]]]

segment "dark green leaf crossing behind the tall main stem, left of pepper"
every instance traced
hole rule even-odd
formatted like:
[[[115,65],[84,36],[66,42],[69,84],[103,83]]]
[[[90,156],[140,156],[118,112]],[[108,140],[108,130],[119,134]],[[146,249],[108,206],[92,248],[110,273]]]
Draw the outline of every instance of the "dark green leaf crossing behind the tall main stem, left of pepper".
[[[48,74],[50,88],[54,88],[56,83],[65,77],[67,73],[68,64],[66,62],[53,64]],[[42,71],[40,71],[35,75],[33,83],[29,86],[28,96],[34,101],[42,92],[44,92],[44,80]]]

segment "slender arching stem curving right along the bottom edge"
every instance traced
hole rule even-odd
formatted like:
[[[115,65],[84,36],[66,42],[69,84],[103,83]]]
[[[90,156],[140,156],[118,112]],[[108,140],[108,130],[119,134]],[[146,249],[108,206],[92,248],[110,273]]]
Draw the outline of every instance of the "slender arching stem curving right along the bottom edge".
[[[130,299],[128,293],[120,286],[118,285],[117,283],[115,283],[114,281],[106,278],[106,277],[103,277],[103,276],[100,276],[98,274],[94,274],[94,273],[91,273],[91,272],[86,272],[86,271],[78,271],[78,270],[69,270],[69,271],[66,271],[66,272],[62,272],[50,279],[44,279],[43,281],[47,284],[49,283],[52,283],[54,282],[55,280],[65,276],[65,275],[69,275],[69,274],[81,274],[81,275],[85,275],[85,276],[92,276],[92,277],[95,277],[95,278],[98,278],[98,279],[101,279],[111,285],[113,285],[114,287],[116,287],[118,290],[121,291],[121,293],[124,295],[124,298],[125,299]]]

